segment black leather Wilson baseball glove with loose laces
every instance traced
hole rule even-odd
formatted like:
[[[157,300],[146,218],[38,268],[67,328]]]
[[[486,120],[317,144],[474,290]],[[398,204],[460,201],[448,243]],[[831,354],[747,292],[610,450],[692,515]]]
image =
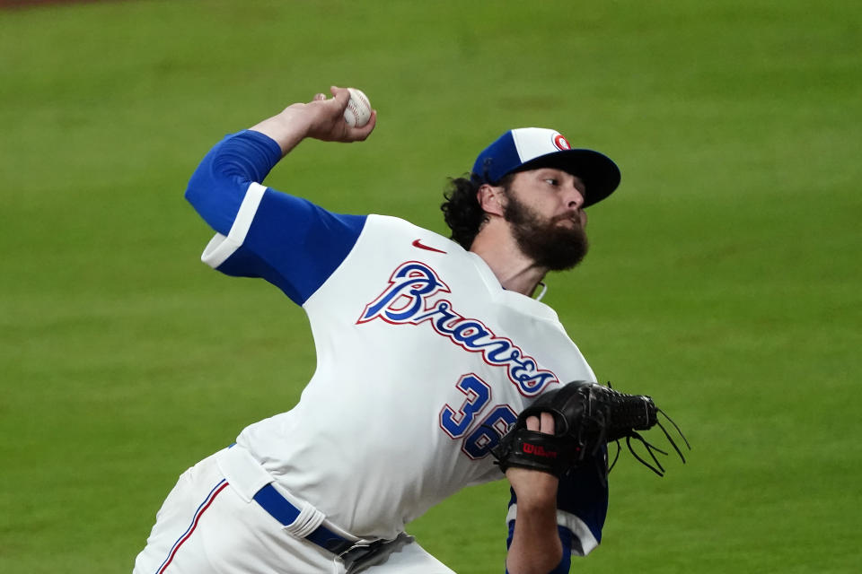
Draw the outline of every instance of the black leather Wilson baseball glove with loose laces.
[[[540,413],[553,415],[554,434],[527,430],[527,418],[539,416]],[[648,431],[658,425],[683,463],[685,457],[658,422],[658,413],[664,414],[690,448],[676,423],[656,407],[649,396],[626,395],[596,383],[574,381],[543,394],[524,409],[497,446],[491,449],[491,454],[497,458],[497,465],[503,472],[510,466],[521,466],[560,476],[568,469],[584,464],[586,460],[596,460],[595,455],[609,442],[626,439],[632,455],[655,474],[662,476],[664,467],[658,462],[655,453],[667,453],[648,443],[638,431]],[[631,439],[645,445],[655,466],[638,456],[631,446]],[[619,451],[618,448],[617,457]],[[603,474],[607,474],[610,470],[605,462],[607,458],[602,457],[602,460]]]

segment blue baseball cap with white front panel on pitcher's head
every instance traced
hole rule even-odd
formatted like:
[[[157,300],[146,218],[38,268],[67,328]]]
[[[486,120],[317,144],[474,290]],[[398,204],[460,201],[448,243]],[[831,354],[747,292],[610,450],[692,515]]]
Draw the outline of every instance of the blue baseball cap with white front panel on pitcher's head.
[[[543,127],[511,129],[479,153],[472,178],[496,185],[516,171],[557,168],[581,178],[586,186],[584,206],[610,196],[620,185],[620,169],[611,158],[594,150],[572,149],[559,132]]]

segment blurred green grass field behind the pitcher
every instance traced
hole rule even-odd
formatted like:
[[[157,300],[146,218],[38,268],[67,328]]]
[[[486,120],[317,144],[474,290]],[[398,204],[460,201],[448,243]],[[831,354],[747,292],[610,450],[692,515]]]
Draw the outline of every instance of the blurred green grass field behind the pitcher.
[[[0,11],[0,573],[128,572],[187,466],[286,410],[301,309],[198,257],[182,192],[222,135],[330,83],[380,115],[268,184],[444,231],[513,126],[611,155],[546,301],[694,446],[621,457],[578,572],[858,572],[862,4],[102,2]],[[410,531],[501,572],[506,485]]]

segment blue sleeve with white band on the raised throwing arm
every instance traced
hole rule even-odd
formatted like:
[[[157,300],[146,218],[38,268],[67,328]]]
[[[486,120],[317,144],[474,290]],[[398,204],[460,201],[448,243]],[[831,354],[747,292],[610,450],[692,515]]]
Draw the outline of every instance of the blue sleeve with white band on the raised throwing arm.
[[[207,263],[224,274],[262,277],[302,305],[347,257],[366,217],[331,213],[257,185],[280,159],[267,135],[228,135],[200,162],[186,198],[227,254]]]

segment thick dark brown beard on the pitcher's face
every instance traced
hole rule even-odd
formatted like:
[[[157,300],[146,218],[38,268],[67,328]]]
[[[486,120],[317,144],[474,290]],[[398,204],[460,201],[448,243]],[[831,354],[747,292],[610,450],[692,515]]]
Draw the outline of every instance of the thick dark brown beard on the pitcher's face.
[[[506,192],[503,218],[512,224],[515,241],[525,256],[550,271],[571,269],[584,259],[589,241],[578,217],[567,214],[543,221],[539,213],[518,201],[508,189]],[[566,219],[572,219],[574,227],[559,225]]]

